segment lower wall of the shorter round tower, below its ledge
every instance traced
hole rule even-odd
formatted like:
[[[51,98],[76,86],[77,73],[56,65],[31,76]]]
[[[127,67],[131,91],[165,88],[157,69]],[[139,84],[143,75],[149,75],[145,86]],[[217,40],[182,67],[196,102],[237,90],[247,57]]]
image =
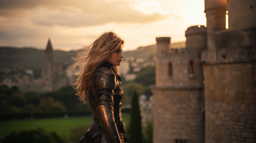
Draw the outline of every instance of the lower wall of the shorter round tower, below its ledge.
[[[153,143],[204,142],[203,90],[151,88],[154,95]]]

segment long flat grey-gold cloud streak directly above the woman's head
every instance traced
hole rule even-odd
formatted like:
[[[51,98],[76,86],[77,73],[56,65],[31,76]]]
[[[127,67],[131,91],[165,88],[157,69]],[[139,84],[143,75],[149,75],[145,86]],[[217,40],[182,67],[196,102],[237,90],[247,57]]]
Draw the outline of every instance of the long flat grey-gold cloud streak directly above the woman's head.
[[[139,23],[146,24],[167,18],[168,15],[158,13],[145,15],[137,11],[119,11],[118,13],[102,12],[100,14],[64,12],[60,10],[43,11],[35,15],[31,21],[45,26],[99,26],[107,23]]]

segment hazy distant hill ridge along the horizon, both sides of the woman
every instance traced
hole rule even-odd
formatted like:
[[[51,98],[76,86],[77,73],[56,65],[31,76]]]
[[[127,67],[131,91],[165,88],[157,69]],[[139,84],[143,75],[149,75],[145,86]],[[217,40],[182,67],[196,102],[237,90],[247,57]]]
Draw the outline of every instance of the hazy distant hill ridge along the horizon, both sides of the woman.
[[[185,42],[172,43],[171,47],[185,47]],[[124,59],[129,56],[135,58],[142,57],[146,61],[153,60],[156,53],[156,45],[139,47],[134,51],[124,51]],[[71,57],[76,56],[76,51],[59,51],[55,50],[55,60],[57,65],[62,65],[64,68],[73,63]],[[36,48],[17,48],[0,46],[0,68],[27,68],[27,69],[42,69],[44,60],[44,50]]]

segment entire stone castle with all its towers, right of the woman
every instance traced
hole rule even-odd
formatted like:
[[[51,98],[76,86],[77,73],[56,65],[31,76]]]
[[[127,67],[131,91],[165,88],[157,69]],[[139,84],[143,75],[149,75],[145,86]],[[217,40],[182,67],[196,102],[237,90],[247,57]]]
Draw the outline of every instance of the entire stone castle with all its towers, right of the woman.
[[[204,3],[185,48],[156,38],[153,143],[256,142],[256,0]]]

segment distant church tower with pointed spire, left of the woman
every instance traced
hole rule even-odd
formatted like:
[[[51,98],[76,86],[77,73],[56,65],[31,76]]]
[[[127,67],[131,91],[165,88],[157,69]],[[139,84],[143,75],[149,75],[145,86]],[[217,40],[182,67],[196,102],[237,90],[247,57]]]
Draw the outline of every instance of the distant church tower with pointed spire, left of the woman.
[[[44,68],[42,70],[43,91],[54,91],[67,85],[65,70],[55,65],[55,55],[51,40],[47,42],[44,53]]]

